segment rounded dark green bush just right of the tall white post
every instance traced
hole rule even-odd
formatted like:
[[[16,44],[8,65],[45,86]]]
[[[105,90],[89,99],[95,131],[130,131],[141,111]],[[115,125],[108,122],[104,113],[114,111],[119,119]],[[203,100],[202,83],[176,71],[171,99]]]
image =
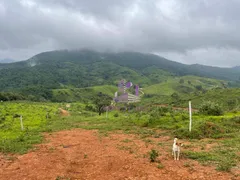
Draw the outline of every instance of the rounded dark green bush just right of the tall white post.
[[[220,116],[223,115],[223,109],[219,104],[207,101],[200,106],[199,113],[204,115]]]

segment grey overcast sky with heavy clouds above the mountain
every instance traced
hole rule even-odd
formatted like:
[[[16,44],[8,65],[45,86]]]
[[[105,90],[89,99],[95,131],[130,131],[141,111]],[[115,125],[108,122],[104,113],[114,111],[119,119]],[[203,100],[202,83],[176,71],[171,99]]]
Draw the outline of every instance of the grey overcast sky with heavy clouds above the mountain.
[[[240,65],[240,0],[0,0],[0,59],[91,48]]]

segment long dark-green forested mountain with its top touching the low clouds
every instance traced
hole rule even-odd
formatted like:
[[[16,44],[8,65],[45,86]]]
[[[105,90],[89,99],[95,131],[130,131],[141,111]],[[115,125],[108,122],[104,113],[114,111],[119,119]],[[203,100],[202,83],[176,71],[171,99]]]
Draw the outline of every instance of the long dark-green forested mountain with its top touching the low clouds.
[[[51,51],[26,61],[0,63],[0,91],[89,87],[115,84],[121,78],[147,86],[184,75],[237,81],[240,69],[185,65],[136,52]]]

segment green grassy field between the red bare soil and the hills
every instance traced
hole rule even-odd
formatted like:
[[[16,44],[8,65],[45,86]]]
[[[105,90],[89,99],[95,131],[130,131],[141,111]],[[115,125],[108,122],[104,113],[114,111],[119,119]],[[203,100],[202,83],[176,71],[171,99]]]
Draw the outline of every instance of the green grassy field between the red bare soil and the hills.
[[[204,165],[215,165],[221,171],[230,171],[240,160],[240,112],[237,111],[225,112],[222,116],[194,113],[190,133],[188,113],[171,108],[152,107],[142,112],[112,111],[106,117],[106,114],[98,116],[95,112],[85,111],[84,104],[76,103],[71,104],[69,109],[71,116],[61,117],[58,107],[65,107],[65,104],[1,103],[0,151],[26,153],[33,144],[42,142],[42,132],[83,128],[97,129],[105,136],[110,131],[120,130],[137,134],[143,141],[150,137],[177,136],[187,142],[183,151],[185,158],[198,160]],[[23,116],[23,131],[18,115]]]

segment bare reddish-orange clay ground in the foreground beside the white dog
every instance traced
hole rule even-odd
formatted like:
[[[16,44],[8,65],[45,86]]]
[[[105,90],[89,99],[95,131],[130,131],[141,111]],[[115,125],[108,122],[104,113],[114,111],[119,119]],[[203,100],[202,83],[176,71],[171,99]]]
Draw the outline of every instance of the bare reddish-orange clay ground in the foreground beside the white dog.
[[[239,177],[214,167],[171,156],[167,136],[142,140],[129,134],[109,134],[75,129],[46,134],[46,143],[16,159],[0,156],[1,180],[230,180]],[[165,143],[166,146],[156,145]],[[165,149],[163,149],[165,147]],[[149,161],[151,148],[158,150],[159,163]]]

